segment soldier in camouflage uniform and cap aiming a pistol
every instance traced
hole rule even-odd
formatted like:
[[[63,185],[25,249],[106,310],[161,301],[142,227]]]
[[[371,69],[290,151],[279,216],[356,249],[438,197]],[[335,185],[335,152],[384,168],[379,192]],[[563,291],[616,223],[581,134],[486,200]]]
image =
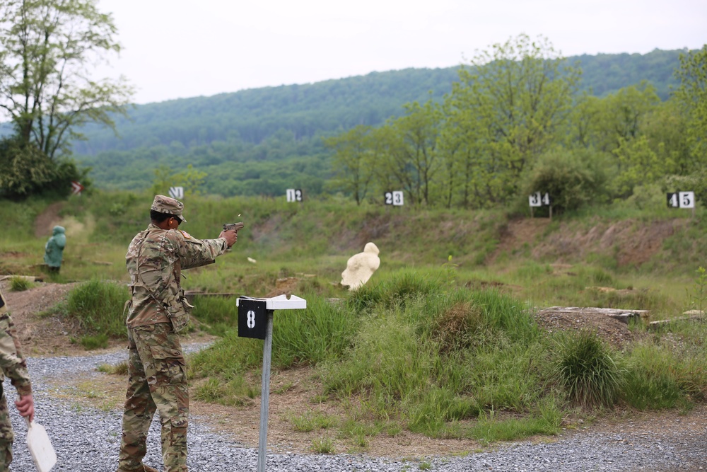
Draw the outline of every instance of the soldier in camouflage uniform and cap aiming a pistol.
[[[196,239],[177,226],[184,205],[156,195],[152,223],[139,232],[125,255],[132,299],[128,301],[129,386],[123,413],[118,471],[157,472],[142,463],[155,411],[162,424],[165,472],[187,472],[189,394],[185,359],[177,331],[189,321],[191,305],[180,284],[181,270],[214,263],[238,239],[221,231]]]

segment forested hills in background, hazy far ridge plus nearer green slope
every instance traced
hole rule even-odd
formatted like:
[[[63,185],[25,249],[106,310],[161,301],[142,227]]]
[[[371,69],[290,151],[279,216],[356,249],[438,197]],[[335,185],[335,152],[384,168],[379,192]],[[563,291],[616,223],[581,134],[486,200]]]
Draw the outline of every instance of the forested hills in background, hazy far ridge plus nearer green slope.
[[[665,100],[676,84],[680,50],[568,57],[583,71],[580,88],[606,96],[646,80]],[[298,185],[322,192],[331,151],[322,137],[356,125],[381,125],[403,105],[441,99],[458,67],[404,69],[315,84],[254,88],[210,97],[137,105],[110,129],[86,127],[74,143],[100,188],[143,189],[155,169],[207,173],[202,190],[221,195],[277,195]],[[183,177],[183,176],[182,176]]]

